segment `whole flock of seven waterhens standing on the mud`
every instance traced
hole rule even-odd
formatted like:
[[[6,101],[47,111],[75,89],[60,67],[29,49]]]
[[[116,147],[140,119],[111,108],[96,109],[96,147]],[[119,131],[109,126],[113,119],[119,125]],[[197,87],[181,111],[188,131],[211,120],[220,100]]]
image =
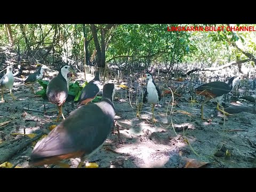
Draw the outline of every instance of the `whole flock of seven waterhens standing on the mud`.
[[[33,84],[42,79],[44,71],[48,69],[46,66],[41,66],[34,73],[30,74],[25,81],[31,90],[34,92]],[[6,74],[0,80],[0,89],[3,91],[9,89],[12,94],[13,74],[12,67],[6,68]],[[62,115],[63,121],[55,127],[47,137],[39,140],[34,147],[29,165],[40,166],[44,164],[60,164],[63,159],[80,158],[81,161],[77,167],[82,167],[84,161],[101,148],[103,143],[108,138],[111,129],[114,125],[115,107],[113,103],[115,94],[115,85],[107,83],[103,86],[103,94],[100,102],[90,103],[100,92],[99,71],[95,73],[95,77],[82,90],[79,98],[78,108],[71,111],[68,117],[64,117],[62,113],[62,105],[68,97],[69,77],[74,73],[70,66],[60,68],[56,77],[51,79],[47,85],[46,95],[51,103],[58,106],[59,114],[55,121],[59,121]],[[153,76],[147,71],[144,75],[148,79],[147,89],[143,94],[143,103],[152,105],[152,122],[156,122],[154,118],[154,107],[161,100],[161,91],[155,84]],[[205,102],[216,99],[217,109],[222,113],[227,114],[219,108],[219,102],[223,95],[233,90],[234,86],[241,81],[241,76],[234,76],[225,82],[211,82],[197,87],[196,94],[204,95]],[[205,103],[204,102],[204,103]],[[203,118],[203,105],[202,119]],[[140,114],[137,114],[140,117]]]

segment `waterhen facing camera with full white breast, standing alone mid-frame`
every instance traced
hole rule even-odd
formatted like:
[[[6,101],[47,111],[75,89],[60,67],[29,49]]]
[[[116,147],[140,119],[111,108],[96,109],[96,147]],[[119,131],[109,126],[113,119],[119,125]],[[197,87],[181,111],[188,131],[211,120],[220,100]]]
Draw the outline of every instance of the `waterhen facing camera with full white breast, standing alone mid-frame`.
[[[161,100],[161,91],[159,90],[159,87],[155,84],[153,76],[147,72],[144,77],[148,79],[147,83],[147,90],[145,91],[143,95],[142,102],[143,103],[150,103],[152,105],[152,121],[156,122],[154,117],[154,108],[155,105],[159,103]],[[137,116],[140,117],[140,114],[137,113]]]

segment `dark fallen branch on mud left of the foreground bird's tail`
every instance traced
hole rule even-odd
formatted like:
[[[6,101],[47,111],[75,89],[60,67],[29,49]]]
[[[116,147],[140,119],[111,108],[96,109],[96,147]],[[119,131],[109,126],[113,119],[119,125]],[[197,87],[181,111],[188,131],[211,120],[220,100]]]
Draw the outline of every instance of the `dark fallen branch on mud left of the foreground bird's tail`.
[[[9,153],[7,154],[0,154],[0,164],[8,161],[12,158],[15,154],[17,154],[21,149],[27,147],[31,142],[36,141],[37,139],[41,138],[43,133],[38,134],[36,137],[32,139],[28,139],[27,141],[20,143],[18,146],[13,147]],[[3,150],[2,150],[3,151]]]

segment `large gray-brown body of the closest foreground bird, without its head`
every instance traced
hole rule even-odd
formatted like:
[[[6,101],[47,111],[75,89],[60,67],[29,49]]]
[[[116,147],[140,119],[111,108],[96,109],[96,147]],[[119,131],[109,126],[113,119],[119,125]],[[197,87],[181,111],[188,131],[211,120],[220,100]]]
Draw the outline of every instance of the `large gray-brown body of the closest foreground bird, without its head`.
[[[48,137],[37,143],[31,158],[37,153],[43,158],[74,153],[74,150],[85,151],[85,156],[93,153],[107,139],[115,116],[108,102],[93,104],[72,111]]]

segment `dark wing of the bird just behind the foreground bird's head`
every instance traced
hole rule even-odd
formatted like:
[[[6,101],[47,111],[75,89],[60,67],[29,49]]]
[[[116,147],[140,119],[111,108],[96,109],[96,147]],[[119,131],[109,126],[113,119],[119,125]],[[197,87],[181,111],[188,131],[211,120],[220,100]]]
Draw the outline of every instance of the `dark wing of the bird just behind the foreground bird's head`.
[[[100,82],[99,81],[90,81],[82,90],[81,97],[79,99],[79,103],[82,101],[94,98],[100,92]]]

